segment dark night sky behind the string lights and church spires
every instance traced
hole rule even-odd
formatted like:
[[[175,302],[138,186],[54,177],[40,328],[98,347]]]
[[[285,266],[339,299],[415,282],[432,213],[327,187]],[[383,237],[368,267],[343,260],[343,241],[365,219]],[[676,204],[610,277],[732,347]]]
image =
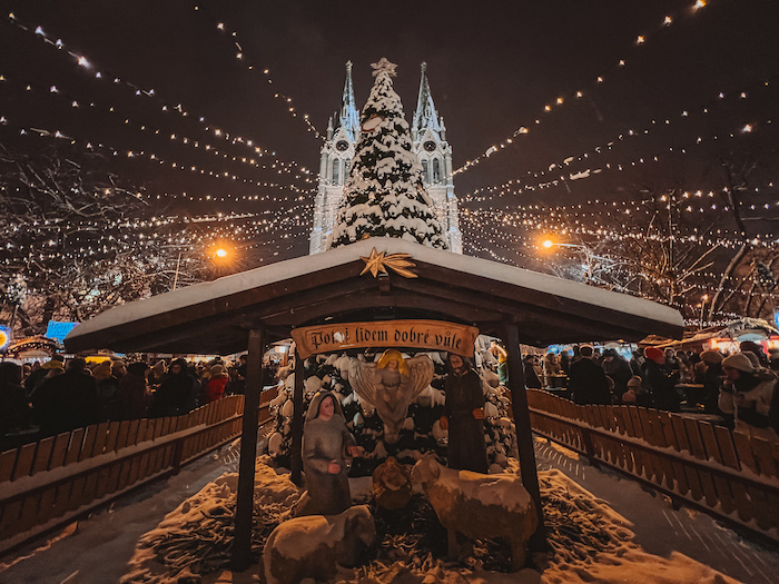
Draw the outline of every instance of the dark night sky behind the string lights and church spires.
[[[0,3],[0,75],[6,77],[0,82],[0,116],[6,118],[0,143],[34,154],[56,141],[34,131],[19,136],[20,128],[38,128],[59,130],[78,147],[110,146],[124,156],[109,155],[107,164],[166,215],[272,210],[278,220],[303,210],[296,226],[285,224],[284,240],[277,230],[258,236],[268,242],[256,251],[264,261],[307,253],[310,214],[305,211],[313,202],[308,189],[316,182],[322,142],[307,131],[303,116],[324,133],[339,105],[347,60],[354,62],[359,108],[373,81],[369,63],[382,57],[396,62],[395,89],[407,119],[416,105],[420,63],[426,61],[456,168],[499,146],[496,154],[455,177],[463,208],[516,211],[535,204],[629,200],[640,188],[717,189],[723,180],[721,161],[749,157],[760,158],[751,178],[758,188],[755,202],[777,200],[772,177],[779,136],[771,117],[779,102],[779,3],[772,0],[711,0],[697,9],[691,0]],[[61,39],[62,49],[36,34],[38,26],[52,42]],[[80,67],[68,50],[82,56],[88,67]],[[115,77],[121,82],[112,82]],[[154,95],[137,96],[127,83],[154,89]],[[164,112],[164,103],[180,103],[188,116]],[[298,117],[290,116],[289,106]],[[200,117],[206,121],[198,122]],[[751,131],[742,131],[747,125]],[[500,149],[520,127],[529,132]],[[258,169],[191,147],[198,141],[230,158],[253,156],[246,143],[217,139],[215,129],[275,152],[263,164],[278,158],[298,166],[279,175],[278,166]],[[650,133],[642,135],[644,129]],[[631,137],[630,130],[639,136]],[[612,149],[605,148],[612,141]],[[154,152],[166,165],[144,156],[127,158],[128,151]],[[584,152],[588,158],[578,160]],[[569,157],[564,169],[550,170]],[[168,162],[196,166],[206,175],[171,169]],[[299,174],[300,167],[313,174]],[[596,168],[602,172],[595,177],[570,180]],[[225,171],[238,179],[207,176]],[[313,182],[305,182],[306,176]],[[568,180],[540,188],[561,176]],[[243,179],[294,185],[303,195]],[[516,179],[522,179],[520,194],[471,200],[475,189]],[[217,202],[198,200],[207,196]],[[244,199],[255,196],[260,199]],[[777,216],[776,210],[756,211],[763,212]],[[771,224],[760,226],[767,234]],[[526,263],[527,249],[520,255],[506,250],[515,242],[502,241],[495,255],[499,248],[483,238],[483,229],[469,218],[462,228],[466,253]]]

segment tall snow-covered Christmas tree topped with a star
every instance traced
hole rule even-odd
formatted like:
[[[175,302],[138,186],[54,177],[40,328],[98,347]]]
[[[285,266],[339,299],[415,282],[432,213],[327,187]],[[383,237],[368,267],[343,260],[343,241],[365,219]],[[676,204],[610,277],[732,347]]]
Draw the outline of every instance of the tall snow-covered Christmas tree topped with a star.
[[[362,136],[329,247],[388,236],[446,249],[392,87],[396,66],[382,59],[372,67],[376,80],[361,115]]]

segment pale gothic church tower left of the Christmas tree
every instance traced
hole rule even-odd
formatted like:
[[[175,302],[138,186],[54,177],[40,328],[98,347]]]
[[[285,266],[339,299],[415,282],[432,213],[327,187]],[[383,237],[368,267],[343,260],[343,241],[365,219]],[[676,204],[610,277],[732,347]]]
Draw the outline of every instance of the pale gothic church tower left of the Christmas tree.
[[[354,103],[352,61],[347,61],[341,109],[327,123],[327,140],[321,151],[319,187],[314,200],[314,228],[310,235],[309,254],[325,250],[327,237],[333,231],[335,216],[338,212],[338,204],[344,196],[344,185],[358,138],[359,111]]]

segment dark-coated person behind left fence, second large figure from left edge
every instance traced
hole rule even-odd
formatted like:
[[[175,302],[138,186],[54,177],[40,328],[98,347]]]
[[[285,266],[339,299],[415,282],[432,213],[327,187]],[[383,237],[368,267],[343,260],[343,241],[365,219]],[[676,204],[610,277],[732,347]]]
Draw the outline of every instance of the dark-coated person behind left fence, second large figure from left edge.
[[[96,424],[99,419],[98,389],[87,373],[87,362],[72,359],[68,370],[46,379],[32,395],[32,406],[43,436]]]

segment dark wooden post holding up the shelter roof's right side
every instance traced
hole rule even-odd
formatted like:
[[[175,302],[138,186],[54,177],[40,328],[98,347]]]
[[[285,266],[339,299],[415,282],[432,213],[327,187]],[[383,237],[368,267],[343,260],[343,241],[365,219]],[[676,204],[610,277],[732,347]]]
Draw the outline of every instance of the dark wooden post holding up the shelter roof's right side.
[[[548,547],[546,527],[544,526],[544,514],[541,506],[539,475],[535,471],[533,432],[530,427],[525,374],[522,354],[520,353],[520,334],[515,324],[509,323],[504,325],[503,342],[509,352],[509,389],[511,390],[511,404],[514,412],[514,425],[516,426],[516,446],[520,451],[520,475],[522,476],[522,484],[530,493],[530,496],[533,497],[535,512],[539,516],[539,526],[535,533],[531,535],[527,546],[532,551],[539,552]]]

